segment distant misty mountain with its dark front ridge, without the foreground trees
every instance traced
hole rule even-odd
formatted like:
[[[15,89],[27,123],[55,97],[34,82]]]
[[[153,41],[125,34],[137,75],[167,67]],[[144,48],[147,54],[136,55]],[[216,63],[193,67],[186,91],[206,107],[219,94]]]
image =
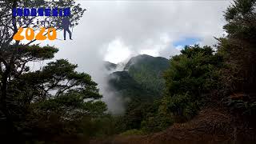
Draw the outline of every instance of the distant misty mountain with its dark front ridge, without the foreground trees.
[[[162,73],[168,66],[166,58],[146,54],[130,58],[121,71],[116,70],[109,75],[109,89],[118,92],[118,97],[148,101],[162,93]],[[118,64],[106,62],[105,67],[106,70],[115,70]]]

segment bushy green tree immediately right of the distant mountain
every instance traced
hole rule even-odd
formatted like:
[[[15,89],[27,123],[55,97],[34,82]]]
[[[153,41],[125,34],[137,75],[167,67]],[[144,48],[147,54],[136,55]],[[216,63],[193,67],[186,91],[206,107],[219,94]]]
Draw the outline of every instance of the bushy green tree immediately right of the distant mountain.
[[[210,101],[211,90],[221,86],[218,70],[223,64],[210,46],[185,46],[181,53],[170,59],[170,69],[166,70],[162,107],[178,116],[178,121],[186,121]]]

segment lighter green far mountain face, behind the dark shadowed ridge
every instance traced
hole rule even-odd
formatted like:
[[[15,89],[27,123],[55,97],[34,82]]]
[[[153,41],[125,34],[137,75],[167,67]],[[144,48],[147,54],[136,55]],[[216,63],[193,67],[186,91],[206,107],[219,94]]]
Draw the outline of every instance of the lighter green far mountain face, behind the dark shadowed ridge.
[[[142,54],[130,58],[124,70],[128,71],[136,82],[158,95],[162,93],[164,87],[162,72],[168,66],[169,64],[166,58]]]

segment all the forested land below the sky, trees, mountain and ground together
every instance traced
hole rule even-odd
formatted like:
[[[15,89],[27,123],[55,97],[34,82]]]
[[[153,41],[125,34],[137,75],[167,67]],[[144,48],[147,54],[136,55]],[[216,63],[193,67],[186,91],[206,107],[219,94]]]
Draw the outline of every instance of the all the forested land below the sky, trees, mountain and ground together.
[[[13,41],[19,6],[70,6],[74,25],[85,11],[73,0],[0,1],[0,143],[256,142],[255,0],[230,3],[214,46],[185,46],[170,59],[138,55],[111,73],[124,114],[111,114],[90,74],[67,59],[31,70],[58,47]]]

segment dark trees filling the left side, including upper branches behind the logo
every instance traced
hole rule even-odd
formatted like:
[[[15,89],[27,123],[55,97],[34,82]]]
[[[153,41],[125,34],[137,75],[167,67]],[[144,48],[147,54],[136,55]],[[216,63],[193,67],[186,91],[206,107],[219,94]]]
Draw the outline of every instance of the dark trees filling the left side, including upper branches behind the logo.
[[[87,138],[109,131],[99,130],[106,104],[100,99],[97,83],[89,74],[75,71],[76,65],[60,59],[40,70],[31,70],[32,62],[54,58],[54,46],[31,45],[14,41],[18,27],[38,26],[16,23],[12,9],[17,7],[69,6],[71,22],[78,25],[83,10],[73,0],[0,1],[0,137],[2,142],[54,142],[56,138]],[[31,17],[32,19],[37,17]],[[55,19],[54,19],[55,18]],[[54,17],[48,20],[58,21]],[[56,19],[57,18],[57,19]],[[26,18],[20,17],[26,20]],[[55,23],[56,24],[56,23]],[[61,29],[57,24],[56,30]],[[107,122],[107,121],[106,121]],[[106,126],[105,126],[106,127]],[[58,140],[56,140],[58,141]]]

